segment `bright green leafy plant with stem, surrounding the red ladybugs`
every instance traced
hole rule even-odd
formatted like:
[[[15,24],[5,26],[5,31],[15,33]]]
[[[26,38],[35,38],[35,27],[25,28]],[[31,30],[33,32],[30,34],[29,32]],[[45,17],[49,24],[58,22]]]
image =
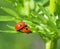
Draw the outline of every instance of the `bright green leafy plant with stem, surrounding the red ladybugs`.
[[[59,0],[50,0],[50,4],[49,0],[2,0],[0,9],[0,21],[13,21],[15,24],[24,21],[30,26],[32,33],[41,36],[46,49],[56,49],[60,37]],[[14,26],[7,24],[7,27],[11,30],[1,29],[0,32],[18,33]]]

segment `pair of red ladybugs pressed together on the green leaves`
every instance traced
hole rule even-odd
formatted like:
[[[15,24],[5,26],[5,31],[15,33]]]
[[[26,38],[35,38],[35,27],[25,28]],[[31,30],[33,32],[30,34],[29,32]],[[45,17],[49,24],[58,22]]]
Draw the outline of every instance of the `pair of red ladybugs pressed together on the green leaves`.
[[[30,27],[27,26],[24,22],[19,22],[16,24],[15,29],[23,33],[30,33]]]

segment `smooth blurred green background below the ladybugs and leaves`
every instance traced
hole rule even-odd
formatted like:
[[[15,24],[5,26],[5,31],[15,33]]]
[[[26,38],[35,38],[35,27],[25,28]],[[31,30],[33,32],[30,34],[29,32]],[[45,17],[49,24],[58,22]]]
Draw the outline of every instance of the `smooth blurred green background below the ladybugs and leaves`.
[[[36,34],[0,33],[0,49],[45,49],[44,42]]]

